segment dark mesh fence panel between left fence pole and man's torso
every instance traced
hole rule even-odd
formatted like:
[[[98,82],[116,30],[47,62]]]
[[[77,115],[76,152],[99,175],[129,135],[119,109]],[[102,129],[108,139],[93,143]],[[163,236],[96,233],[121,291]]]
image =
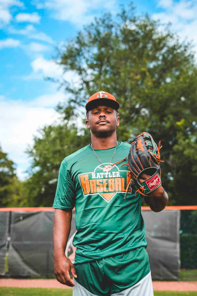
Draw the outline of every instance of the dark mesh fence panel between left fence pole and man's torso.
[[[10,276],[54,276],[53,217],[54,211],[12,212]],[[74,223],[75,211],[70,236],[75,231]]]

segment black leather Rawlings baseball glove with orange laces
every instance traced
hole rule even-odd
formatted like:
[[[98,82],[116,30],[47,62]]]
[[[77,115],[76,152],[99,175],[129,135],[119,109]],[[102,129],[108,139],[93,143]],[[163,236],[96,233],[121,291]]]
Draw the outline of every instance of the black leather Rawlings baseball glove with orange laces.
[[[143,196],[147,196],[150,192],[161,186],[161,168],[159,162],[162,160],[160,160],[159,149],[162,146],[160,146],[160,143],[161,141],[159,141],[159,146],[157,147],[152,136],[146,132],[141,133],[141,135],[136,137],[136,141],[131,143],[128,155],[131,180],[126,189],[125,200],[130,186],[136,189],[135,196],[137,192]],[[150,177],[140,183],[139,178],[141,178],[142,173],[146,173]]]

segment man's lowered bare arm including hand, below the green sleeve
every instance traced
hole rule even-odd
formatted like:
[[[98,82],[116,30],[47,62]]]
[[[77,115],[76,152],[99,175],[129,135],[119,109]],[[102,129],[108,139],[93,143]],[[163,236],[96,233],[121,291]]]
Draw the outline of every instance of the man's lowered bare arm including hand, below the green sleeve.
[[[71,230],[71,210],[55,210],[53,221],[53,249],[54,249],[54,272],[56,279],[70,287],[74,287],[74,282],[69,276],[69,271],[73,277],[76,276],[74,265],[65,255],[66,244]]]

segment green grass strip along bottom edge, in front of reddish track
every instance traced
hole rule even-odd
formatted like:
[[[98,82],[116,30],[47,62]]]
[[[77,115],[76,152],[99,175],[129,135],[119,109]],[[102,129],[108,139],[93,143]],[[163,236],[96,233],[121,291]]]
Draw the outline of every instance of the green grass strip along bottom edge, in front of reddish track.
[[[1,296],[72,296],[72,289],[0,287]],[[154,296],[196,296],[196,292],[154,291]]]

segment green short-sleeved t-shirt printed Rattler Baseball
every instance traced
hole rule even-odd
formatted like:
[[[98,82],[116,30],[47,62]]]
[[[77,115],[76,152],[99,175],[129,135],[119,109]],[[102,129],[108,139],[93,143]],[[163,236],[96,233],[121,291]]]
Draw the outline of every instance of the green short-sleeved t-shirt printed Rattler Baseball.
[[[112,164],[128,155],[130,144],[118,142]],[[109,165],[115,147],[95,152]],[[75,206],[75,263],[100,259],[146,247],[140,194],[125,190],[130,180],[127,160],[108,171],[90,145],[67,156],[61,163],[53,208]],[[121,167],[122,166],[122,167]]]

